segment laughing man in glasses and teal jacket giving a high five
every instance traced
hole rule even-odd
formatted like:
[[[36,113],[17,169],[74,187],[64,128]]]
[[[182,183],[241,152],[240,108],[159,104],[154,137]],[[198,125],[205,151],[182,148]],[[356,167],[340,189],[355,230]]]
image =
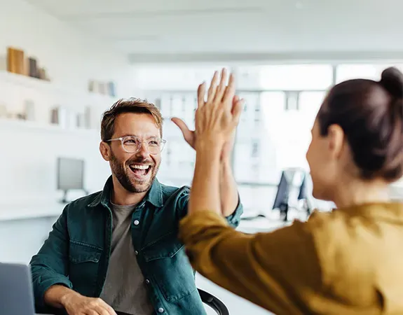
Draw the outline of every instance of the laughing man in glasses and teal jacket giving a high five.
[[[195,133],[174,120],[190,145]],[[68,204],[31,261],[37,311],[69,315],[205,314],[194,272],[177,239],[189,187],[164,186],[163,118],[153,104],[120,100],[104,113],[100,152],[111,177],[104,190]],[[223,150],[221,204],[234,227],[242,206]],[[52,307],[52,309],[49,309]]]

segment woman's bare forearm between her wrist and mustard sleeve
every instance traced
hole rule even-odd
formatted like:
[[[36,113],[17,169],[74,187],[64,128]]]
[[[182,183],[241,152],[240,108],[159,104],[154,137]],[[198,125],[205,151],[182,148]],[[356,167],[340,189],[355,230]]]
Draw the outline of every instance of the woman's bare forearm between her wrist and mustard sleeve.
[[[219,193],[221,148],[217,142],[196,145],[196,166],[189,200],[189,214],[210,210],[221,214]]]

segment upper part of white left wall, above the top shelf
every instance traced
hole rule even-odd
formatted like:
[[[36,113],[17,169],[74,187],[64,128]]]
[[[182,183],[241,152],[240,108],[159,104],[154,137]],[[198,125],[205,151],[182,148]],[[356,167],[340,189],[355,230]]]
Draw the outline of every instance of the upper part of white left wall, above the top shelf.
[[[39,59],[50,78],[86,90],[88,79],[116,80],[130,91],[127,57],[23,0],[0,0],[0,55],[11,45]]]

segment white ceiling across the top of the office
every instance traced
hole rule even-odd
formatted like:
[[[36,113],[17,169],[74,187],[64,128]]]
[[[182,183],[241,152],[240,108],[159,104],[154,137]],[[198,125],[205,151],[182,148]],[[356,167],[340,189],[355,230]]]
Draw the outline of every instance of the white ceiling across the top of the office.
[[[132,57],[403,52],[401,0],[27,1]]]

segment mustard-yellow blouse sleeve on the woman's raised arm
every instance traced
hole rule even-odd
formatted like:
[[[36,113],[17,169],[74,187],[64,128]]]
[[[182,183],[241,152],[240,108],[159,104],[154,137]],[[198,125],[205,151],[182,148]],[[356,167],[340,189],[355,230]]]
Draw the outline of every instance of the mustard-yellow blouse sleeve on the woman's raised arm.
[[[218,214],[198,211],[182,219],[179,237],[196,271],[275,314],[306,313],[302,300],[320,290],[320,265],[306,223],[246,235]]]

